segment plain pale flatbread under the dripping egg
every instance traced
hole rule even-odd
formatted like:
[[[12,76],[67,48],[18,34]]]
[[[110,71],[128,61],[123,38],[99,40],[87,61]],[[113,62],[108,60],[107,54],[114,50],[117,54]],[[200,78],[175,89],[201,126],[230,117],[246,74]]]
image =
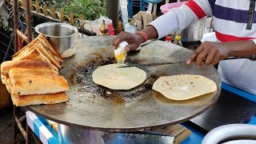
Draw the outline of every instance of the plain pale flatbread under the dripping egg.
[[[137,67],[118,68],[118,64],[100,66],[92,75],[93,81],[111,90],[130,90],[146,80],[146,72]]]

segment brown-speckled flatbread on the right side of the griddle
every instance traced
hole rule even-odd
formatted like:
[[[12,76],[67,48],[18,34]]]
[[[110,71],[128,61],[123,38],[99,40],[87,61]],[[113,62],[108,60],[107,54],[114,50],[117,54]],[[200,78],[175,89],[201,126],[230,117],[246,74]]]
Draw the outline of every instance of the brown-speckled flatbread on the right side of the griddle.
[[[180,74],[158,78],[152,89],[172,100],[186,100],[214,92],[217,86],[202,75]]]

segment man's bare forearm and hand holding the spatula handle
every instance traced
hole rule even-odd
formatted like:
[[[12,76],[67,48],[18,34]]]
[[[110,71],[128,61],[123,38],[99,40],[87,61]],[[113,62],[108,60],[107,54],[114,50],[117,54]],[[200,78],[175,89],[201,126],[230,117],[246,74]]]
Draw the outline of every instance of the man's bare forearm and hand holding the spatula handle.
[[[201,66],[205,61],[206,65],[216,65],[227,57],[243,58],[256,54],[255,40],[244,40],[237,42],[203,42],[188,59],[187,64],[195,61]]]

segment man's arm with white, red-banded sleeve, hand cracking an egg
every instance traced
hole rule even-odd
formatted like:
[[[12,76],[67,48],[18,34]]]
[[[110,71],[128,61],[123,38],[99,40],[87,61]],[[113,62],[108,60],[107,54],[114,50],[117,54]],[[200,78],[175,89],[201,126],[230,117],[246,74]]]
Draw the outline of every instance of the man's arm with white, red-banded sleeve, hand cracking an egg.
[[[206,15],[211,15],[210,1],[212,0],[190,0],[186,5],[170,10],[167,14],[151,22],[142,32],[148,39],[163,38],[177,30],[183,30],[194,22]],[[145,39],[140,34],[130,34],[122,32],[113,40],[113,46],[118,47],[119,43],[126,41],[126,51],[136,50]]]

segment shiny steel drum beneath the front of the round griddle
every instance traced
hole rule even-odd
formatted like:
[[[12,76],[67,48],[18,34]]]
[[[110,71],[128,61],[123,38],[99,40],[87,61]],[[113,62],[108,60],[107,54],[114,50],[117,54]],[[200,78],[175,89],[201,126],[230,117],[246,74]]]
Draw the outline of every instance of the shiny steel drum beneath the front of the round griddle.
[[[61,143],[114,144],[114,143],[159,143],[172,144],[174,137],[153,131],[136,133],[110,133],[98,130],[85,130],[78,127],[58,124],[58,138]]]

